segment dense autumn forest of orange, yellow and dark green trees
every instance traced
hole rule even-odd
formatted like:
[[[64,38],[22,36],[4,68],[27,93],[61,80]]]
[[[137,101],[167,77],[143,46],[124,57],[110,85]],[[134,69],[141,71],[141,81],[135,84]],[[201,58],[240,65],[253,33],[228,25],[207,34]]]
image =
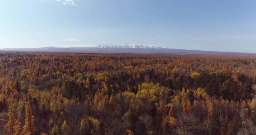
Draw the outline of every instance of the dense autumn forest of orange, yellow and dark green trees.
[[[0,135],[256,135],[256,57],[0,53]]]

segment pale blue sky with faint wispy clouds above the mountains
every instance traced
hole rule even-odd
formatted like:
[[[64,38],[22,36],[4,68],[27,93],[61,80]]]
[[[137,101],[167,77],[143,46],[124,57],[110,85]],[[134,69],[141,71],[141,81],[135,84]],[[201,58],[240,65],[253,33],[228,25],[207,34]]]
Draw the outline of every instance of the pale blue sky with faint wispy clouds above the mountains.
[[[125,43],[256,52],[256,0],[1,0],[0,48]]]

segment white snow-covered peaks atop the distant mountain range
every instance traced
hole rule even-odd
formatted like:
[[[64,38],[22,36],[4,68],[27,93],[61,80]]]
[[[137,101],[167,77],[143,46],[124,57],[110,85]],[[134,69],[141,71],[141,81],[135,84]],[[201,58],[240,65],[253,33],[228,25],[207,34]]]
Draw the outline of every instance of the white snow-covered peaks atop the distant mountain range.
[[[148,48],[148,49],[153,49],[153,48],[161,48],[161,47],[156,47],[156,46],[152,46],[152,45],[146,45],[146,44],[142,44],[142,45],[138,45],[138,44],[120,44],[120,45],[116,45],[116,44],[99,44],[97,46],[95,46],[94,48]]]

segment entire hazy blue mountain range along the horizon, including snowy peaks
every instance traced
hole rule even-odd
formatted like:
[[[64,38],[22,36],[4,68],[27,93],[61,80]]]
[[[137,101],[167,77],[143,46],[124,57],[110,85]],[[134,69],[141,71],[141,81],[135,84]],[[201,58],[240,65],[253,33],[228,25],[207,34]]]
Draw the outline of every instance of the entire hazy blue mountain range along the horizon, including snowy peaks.
[[[99,44],[94,47],[43,47],[43,48],[4,48],[4,52],[72,52],[72,53],[137,53],[137,54],[202,54],[202,55],[256,55],[255,53],[215,52],[185,50],[170,47],[157,47],[138,44]]]

